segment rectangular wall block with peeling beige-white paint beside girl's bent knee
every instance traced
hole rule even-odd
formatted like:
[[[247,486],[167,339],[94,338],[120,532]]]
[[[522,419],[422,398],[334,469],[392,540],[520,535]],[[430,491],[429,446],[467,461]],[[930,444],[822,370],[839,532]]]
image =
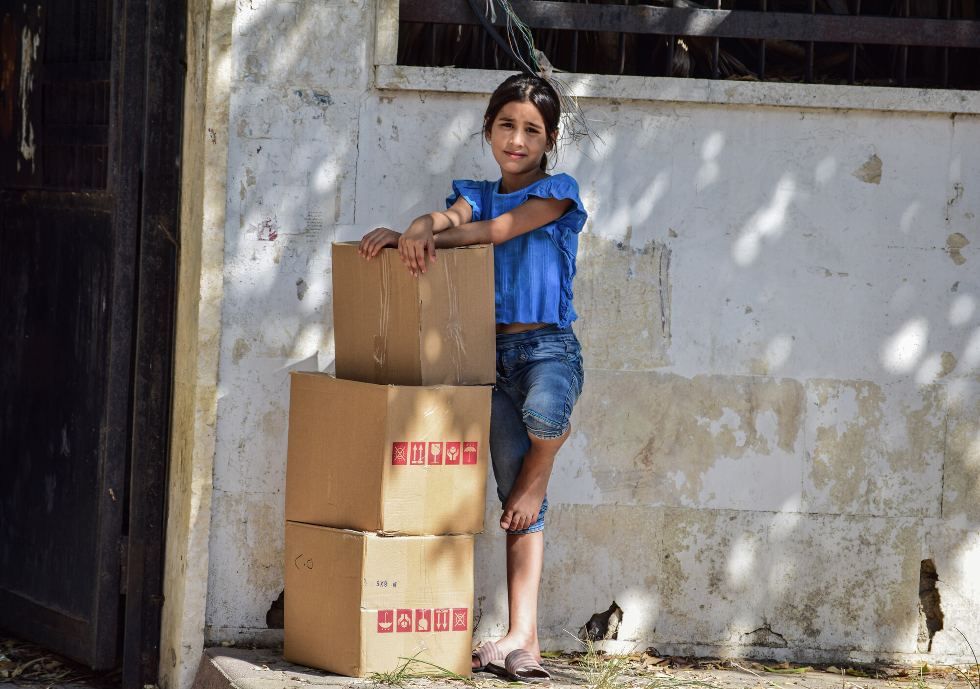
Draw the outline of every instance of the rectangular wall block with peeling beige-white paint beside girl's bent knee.
[[[572,434],[602,502],[777,510],[799,505],[803,407],[793,380],[590,369]]]

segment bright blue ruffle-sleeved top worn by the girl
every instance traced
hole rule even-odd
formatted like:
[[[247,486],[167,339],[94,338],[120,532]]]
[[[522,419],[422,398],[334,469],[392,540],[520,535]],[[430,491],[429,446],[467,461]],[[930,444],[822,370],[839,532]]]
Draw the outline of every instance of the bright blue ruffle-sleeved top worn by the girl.
[[[494,248],[498,323],[556,323],[566,327],[578,318],[572,307],[578,233],[588,214],[578,198],[578,183],[566,174],[545,177],[513,194],[501,194],[500,182],[457,179],[451,207],[462,196],[473,209],[473,222],[514,210],[530,197],[571,199],[562,217]]]

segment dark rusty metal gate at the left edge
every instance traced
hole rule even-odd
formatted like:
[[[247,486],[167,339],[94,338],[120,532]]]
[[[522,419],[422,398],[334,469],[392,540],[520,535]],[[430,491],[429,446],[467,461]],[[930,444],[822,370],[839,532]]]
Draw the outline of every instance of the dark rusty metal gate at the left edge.
[[[0,0],[0,626],[157,677],[183,3]]]

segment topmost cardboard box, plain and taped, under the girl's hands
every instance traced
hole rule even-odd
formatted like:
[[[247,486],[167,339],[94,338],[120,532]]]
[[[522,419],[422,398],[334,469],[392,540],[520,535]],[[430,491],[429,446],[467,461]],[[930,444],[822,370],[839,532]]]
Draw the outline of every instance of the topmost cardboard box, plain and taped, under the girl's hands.
[[[333,245],[337,378],[400,386],[496,381],[493,247],[436,250],[413,277],[397,249]]]

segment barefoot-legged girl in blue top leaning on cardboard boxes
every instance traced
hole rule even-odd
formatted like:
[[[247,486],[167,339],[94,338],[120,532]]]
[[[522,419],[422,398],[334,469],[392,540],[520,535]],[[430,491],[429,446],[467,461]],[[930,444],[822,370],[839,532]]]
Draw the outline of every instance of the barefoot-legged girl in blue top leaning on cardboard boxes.
[[[538,583],[544,553],[546,488],[555,454],[569,433],[582,391],[581,346],[571,331],[578,233],[586,213],[578,185],[549,175],[562,109],[552,86],[520,74],[502,83],[487,106],[483,135],[500,163],[495,182],[456,180],[448,210],[416,218],[404,234],[368,233],[368,259],[397,246],[413,275],[435,250],[494,245],[497,384],[490,418],[490,455],[507,531],[510,629],[473,653],[484,667],[512,679],[546,681],[538,648]]]

